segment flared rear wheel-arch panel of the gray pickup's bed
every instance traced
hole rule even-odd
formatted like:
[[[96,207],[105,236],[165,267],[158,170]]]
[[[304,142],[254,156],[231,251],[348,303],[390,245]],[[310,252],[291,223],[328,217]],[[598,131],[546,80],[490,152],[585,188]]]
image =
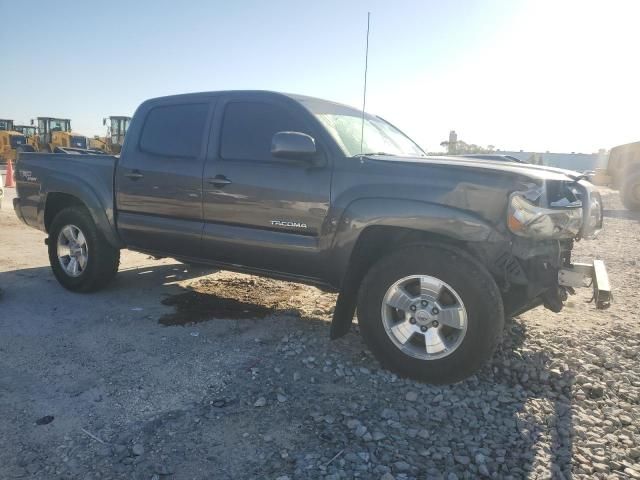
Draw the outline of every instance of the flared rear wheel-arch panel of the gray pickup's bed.
[[[91,181],[91,183],[89,182]],[[98,175],[89,179],[78,176],[69,176],[67,173],[50,172],[43,181],[41,195],[43,198],[39,205],[38,222],[44,225],[47,202],[50,195],[64,193],[80,200],[87,208],[98,229],[107,241],[116,248],[123,248],[124,243],[118,235],[115,222],[113,205],[113,185]]]

